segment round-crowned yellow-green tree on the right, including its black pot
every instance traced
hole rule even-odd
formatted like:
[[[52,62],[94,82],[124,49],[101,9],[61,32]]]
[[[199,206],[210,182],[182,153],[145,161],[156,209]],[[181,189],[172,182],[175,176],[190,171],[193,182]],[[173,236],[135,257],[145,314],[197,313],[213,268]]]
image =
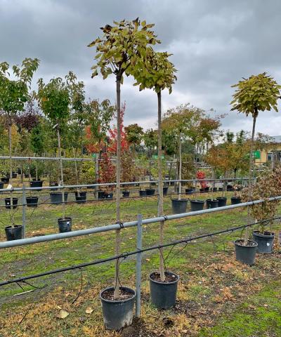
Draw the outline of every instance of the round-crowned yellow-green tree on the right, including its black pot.
[[[281,86],[270,76],[264,72],[259,75],[252,75],[249,79],[239,81],[233,87],[236,91],[233,95],[231,110],[237,110],[248,116],[251,114],[253,117],[253,127],[251,131],[251,146],[249,154],[249,188],[248,200],[252,198],[252,169],[253,163],[253,148],[254,148],[254,135],[256,128],[256,119],[260,111],[274,109],[277,110],[277,99],[280,98]],[[249,207],[248,207],[248,222],[249,222]],[[249,240],[249,227],[245,230],[244,239],[235,241],[236,259],[242,263],[253,265],[256,256],[257,243]]]

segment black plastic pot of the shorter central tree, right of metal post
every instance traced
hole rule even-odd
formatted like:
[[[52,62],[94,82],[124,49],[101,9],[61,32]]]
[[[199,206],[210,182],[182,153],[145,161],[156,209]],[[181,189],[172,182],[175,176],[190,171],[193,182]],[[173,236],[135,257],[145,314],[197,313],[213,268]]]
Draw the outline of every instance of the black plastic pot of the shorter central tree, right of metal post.
[[[176,304],[176,291],[180,277],[174,272],[165,272],[165,275],[173,275],[174,282],[158,282],[152,279],[150,274],[150,296],[151,302],[157,309],[169,309]]]

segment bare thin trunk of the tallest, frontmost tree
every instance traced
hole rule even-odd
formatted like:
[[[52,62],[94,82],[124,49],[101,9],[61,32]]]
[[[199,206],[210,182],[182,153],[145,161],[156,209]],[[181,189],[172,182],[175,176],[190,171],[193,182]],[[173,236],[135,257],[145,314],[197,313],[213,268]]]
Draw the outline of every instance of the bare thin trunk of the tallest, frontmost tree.
[[[116,79],[117,96],[117,163],[116,163],[116,221],[120,221],[120,178],[121,178],[121,98],[120,98],[121,79]],[[120,230],[116,230],[115,255],[120,254],[121,235]],[[115,263],[115,293],[114,298],[119,297],[119,259]]]

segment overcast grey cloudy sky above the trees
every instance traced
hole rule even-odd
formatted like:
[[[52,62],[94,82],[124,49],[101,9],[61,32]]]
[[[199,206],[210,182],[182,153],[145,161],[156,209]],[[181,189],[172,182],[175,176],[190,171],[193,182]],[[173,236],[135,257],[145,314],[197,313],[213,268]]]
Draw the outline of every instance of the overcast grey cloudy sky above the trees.
[[[155,23],[159,51],[174,55],[178,81],[163,108],[192,103],[228,114],[223,128],[251,129],[251,118],[230,112],[233,88],[242,77],[268,72],[281,82],[280,0],[0,0],[0,62],[39,58],[36,74],[48,80],[74,71],[86,85],[87,97],[115,102],[115,79],[91,79],[99,27],[113,20]],[[125,124],[155,126],[157,96],[138,92],[124,79]],[[279,105],[280,106],[280,105]],[[257,130],[281,134],[281,111],[262,112]]]

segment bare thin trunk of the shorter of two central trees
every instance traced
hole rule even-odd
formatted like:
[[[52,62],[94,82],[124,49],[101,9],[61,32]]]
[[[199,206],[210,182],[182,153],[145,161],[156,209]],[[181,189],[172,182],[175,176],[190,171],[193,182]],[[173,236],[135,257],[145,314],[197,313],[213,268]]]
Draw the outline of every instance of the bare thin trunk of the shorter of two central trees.
[[[157,93],[158,98],[158,216],[163,215],[163,178],[162,178],[162,110],[161,110],[161,91]],[[164,240],[164,221],[160,221],[159,244]],[[159,249],[159,273],[162,282],[165,281],[163,249]]]

